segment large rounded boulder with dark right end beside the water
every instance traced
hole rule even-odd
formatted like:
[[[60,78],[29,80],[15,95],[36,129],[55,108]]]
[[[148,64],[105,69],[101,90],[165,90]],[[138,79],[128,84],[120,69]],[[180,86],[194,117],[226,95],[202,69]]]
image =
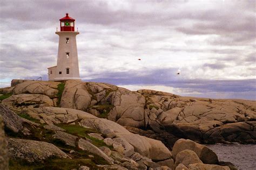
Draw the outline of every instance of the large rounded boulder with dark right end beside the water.
[[[194,151],[204,164],[219,164],[217,154],[215,154],[210,148],[198,144],[190,139],[179,139],[176,141],[172,149],[173,158],[175,159],[177,154],[183,150]]]

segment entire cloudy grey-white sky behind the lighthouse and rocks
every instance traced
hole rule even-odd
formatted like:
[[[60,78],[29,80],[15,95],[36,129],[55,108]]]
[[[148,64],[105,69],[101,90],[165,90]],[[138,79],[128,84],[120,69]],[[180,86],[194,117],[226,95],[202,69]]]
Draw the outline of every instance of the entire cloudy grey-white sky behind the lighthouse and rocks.
[[[0,87],[12,79],[48,80],[47,68],[57,62],[56,27],[68,12],[80,32],[84,81],[256,100],[255,5],[254,0],[1,0]]]

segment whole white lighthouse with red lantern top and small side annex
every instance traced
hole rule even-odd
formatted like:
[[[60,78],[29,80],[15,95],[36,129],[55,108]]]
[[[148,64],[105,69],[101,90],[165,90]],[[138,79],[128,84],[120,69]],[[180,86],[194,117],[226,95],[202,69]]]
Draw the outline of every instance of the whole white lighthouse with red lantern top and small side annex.
[[[55,32],[59,36],[57,66],[48,68],[49,80],[80,80],[76,41],[79,32],[75,31],[75,19],[66,13],[66,16],[59,21],[60,29]]]

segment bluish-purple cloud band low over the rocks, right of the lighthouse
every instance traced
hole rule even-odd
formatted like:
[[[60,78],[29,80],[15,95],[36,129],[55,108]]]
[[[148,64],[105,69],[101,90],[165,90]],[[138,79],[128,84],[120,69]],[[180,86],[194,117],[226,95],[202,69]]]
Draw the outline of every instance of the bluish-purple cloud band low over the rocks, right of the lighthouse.
[[[129,72],[104,72],[96,79],[86,79],[84,81],[107,82],[117,85],[145,84],[145,85],[165,85],[174,88],[193,89],[204,92],[243,92],[256,91],[256,80],[187,80],[177,75],[176,68],[151,69],[147,74],[140,74],[138,70]],[[246,86],[244,86],[246,84]]]

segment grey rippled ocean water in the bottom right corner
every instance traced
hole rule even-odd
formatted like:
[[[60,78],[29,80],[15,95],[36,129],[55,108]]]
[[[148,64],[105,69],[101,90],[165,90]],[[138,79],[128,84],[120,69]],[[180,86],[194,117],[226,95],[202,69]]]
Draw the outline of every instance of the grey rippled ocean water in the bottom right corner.
[[[256,169],[256,145],[206,145],[211,148],[219,158],[219,161],[232,162],[238,169]]]

